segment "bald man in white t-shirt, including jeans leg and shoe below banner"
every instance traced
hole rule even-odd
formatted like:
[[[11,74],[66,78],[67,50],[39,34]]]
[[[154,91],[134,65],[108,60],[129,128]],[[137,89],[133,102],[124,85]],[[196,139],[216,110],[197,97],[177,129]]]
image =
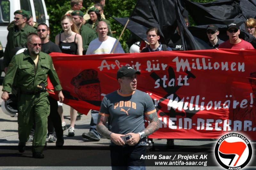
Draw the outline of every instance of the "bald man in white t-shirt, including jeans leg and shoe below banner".
[[[86,55],[124,53],[124,50],[119,42],[116,46],[116,49],[114,50],[117,40],[108,36],[108,26],[106,22],[100,21],[97,25],[96,31],[98,33],[98,38],[90,42],[89,47],[86,51]],[[99,111],[92,110],[91,114],[92,119],[90,123],[90,131],[88,133],[83,133],[82,137],[92,141],[99,141],[100,134],[96,130]]]

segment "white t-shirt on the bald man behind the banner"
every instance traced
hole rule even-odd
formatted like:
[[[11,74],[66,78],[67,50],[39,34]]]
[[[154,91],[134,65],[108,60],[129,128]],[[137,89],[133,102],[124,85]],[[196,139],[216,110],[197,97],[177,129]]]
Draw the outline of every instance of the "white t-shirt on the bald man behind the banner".
[[[106,41],[99,41],[99,38],[96,38],[95,40],[90,42],[89,47],[86,51],[86,55],[110,54],[116,42],[117,40],[110,36],[108,36],[108,39]],[[120,42],[118,42],[114,53],[115,54],[124,53],[124,50],[121,47]]]

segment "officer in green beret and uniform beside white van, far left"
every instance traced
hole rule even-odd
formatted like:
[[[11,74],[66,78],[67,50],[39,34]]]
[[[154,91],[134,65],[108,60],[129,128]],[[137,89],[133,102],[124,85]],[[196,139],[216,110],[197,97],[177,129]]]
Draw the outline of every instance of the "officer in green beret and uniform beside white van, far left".
[[[7,44],[4,51],[4,71],[6,72],[8,65],[12,59],[11,50],[14,47],[26,47],[27,37],[29,33],[35,32],[36,29],[26,24],[28,12],[25,10],[17,10],[14,12],[15,26],[7,35]]]

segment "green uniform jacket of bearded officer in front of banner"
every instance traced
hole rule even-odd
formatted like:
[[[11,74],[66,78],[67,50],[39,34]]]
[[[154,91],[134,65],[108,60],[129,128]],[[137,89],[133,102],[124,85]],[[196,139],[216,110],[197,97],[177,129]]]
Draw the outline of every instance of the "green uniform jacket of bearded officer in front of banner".
[[[56,91],[62,90],[51,56],[40,52],[36,69],[36,65],[27,50],[12,57],[4,77],[3,91],[11,92],[12,87],[17,87],[20,92],[37,92],[37,85],[44,83],[45,87],[47,86],[47,75],[54,89]]]

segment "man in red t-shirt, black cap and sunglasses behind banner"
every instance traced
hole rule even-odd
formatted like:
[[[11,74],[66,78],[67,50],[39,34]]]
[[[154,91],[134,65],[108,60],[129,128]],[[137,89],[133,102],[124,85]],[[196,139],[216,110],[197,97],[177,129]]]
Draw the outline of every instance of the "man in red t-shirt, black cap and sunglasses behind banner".
[[[228,41],[220,44],[219,48],[248,50],[254,49],[252,44],[239,38],[240,26],[237,23],[230,23],[227,26]]]

